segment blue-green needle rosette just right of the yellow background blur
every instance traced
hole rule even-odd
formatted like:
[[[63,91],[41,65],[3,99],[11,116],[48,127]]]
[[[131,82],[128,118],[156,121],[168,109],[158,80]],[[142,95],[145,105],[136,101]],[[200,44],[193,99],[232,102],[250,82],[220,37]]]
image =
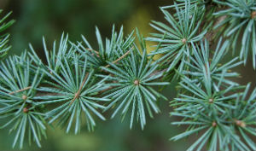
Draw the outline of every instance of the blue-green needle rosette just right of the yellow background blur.
[[[200,41],[207,33],[207,28],[199,33],[203,16],[199,10],[190,9],[190,3],[184,5],[184,8],[178,8],[176,3],[173,6],[177,11],[177,19],[165,8],[161,8],[170,26],[153,21],[154,24],[151,26],[160,33],[154,33],[152,34],[153,38],[147,38],[149,41],[161,44],[161,48],[156,49],[150,55],[164,54],[158,61],[161,66],[167,65],[167,72],[173,68],[176,68],[178,72],[183,71],[185,69],[184,61],[187,61],[189,55],[192,55],[189,45]]]

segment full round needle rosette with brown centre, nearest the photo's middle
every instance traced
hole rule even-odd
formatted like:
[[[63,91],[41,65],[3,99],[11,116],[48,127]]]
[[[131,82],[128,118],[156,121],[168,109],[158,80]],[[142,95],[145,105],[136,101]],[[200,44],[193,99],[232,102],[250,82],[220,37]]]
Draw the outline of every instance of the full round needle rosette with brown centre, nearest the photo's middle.
[[[141,39],[140,39],[141,40]],[[162,96],[159,92],[154,90],[154,85],[166,85],[167,82],[154,82],[155,79],[163,76],[163,73],[155,73],[158,65],[152,63],[152,58],[147,58],[147,49],[144,41],[140,41],[143,54],[140,50],[134,46],[134,49],[130,50],[130,54],[122,61],[119,61],[117,65],[109,62],[111,68],[102,67],[102,69],[110,73],[108,81],[114,81],[113,84],[109,84],[113,87],[106,93],[111,98],[112,102],[108,105],[108,108],[116,108],[111,118],[116,113],[121,111],[123,119],[126,113],[131,109],[131,125],[133,120],[137,118],[140,121],[142,129],[146,125],[146,112],[153,118],[153,113],[159,113],[160,109],[156,105],[157,97]],[[106,77],[106,75],[100,75],[100,77]],[[122,109],[123,108],[123,109]],[[137,115],[137,117],[135,117]]]

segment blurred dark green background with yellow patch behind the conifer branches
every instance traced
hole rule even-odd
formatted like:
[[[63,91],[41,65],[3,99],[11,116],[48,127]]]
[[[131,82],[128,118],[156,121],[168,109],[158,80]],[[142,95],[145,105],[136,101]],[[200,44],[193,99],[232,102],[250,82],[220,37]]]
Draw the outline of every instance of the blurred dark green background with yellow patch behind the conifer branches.
[[[148,25],[150,20],[165,22],[159,6],[170,5],[172,0],[0,0],[3,14],[13,11],[11,18],[15,25],[9,28],[11,34],[10,54],[19,55],[28,49],[31,43],[38,54],[43,54],[43,36],[50,45],[61,38],[61,33],[69,34],[71,41],[80,41],[83,34],[90,44],[96,45],[95,27],[98,26],[102,37],[110,37],[113,24],[119,29],[124,26],[125,33],[130,33],[135,27],[145,37],[154,30]],[[230,55],[227,59],[230,59]],[[236,68],[241,78],[236,79],[241,84],[252,82],[255,87],[256,73],[247,62],[246,67]],[[172,100],[176,96],[176,84],[167,87],[163,93]],[[23,150],[88,150],[88,151],[182,151],[189,147],[188,140],[177,142],[169,138],[183,131],[183,127],[170,125],[175,117],[170,118],[172,111],[169,103],[160,101],[161,113],[154,119],[147,119],[147,125],[142,131],[140,125],[129,128],[129,118],[123,123],[119,118],[97,121],[96,131],[87,132],[84,125],[77,136],[56,128],[48,129],[48,138],[43,140],[43,148],[36,145]],[[107,117],[108,114],[106,115]],[[12,150],[13,134],[7,129],[0,130],[0,150]]]

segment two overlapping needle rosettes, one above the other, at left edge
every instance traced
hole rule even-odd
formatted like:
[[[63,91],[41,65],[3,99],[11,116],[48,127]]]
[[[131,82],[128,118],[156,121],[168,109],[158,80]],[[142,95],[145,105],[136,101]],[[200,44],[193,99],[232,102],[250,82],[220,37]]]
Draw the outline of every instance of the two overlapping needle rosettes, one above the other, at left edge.
[[[40,147],[42,135],[46,136],[44,113],[35,100],[43,74],[39,69],[32,73],[31,62],[27,57],[13,56],[0,66],[0,119],[9,119],[1,128],[15,132],[13,147],[20,142],[22,148],[26,137]]]

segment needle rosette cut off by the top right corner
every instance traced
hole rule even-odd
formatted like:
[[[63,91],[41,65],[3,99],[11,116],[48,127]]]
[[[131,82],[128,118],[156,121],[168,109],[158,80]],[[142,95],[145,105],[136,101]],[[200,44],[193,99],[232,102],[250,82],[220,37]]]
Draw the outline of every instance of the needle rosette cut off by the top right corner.
[[[247,57],[252,53],[253,68],[256,67],[256,1],[255,0],[228,0],[226,2],[214,0],[222,7],[214,15],[222,16],[222,21],[215,28],[223,28],[224,36],[230,38],[234,51],[240,48],[240,59],[247,62]],[[240,38],[242,35],[242,38]],[[238,45],[238,44],[241,44]],[[250,52],[251,51],[251,52]]]

